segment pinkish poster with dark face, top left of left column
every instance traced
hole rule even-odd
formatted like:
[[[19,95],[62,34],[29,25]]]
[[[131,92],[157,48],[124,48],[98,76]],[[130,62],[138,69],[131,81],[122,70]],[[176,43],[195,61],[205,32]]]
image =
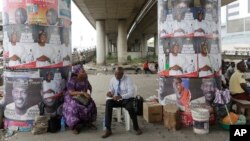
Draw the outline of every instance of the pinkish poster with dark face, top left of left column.
[[[3,25],[27,24],[26,0],[3,0]]]

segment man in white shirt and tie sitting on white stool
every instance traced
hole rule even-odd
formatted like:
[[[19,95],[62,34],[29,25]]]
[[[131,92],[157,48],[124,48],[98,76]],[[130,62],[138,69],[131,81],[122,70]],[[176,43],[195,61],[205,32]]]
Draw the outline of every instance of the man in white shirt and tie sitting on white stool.
[[[133,127],[136,135],[142,134],[138,126],[137,115],[133,106],[135,94],[135,87],[133,81],[127,75],[124,75],[122,67],[117,67],[115,70],[115,77],[113,77],[109,84],[109,91],[107,93],[106,110],[105,110],[105,127],[106,132],[102,138],[107,138],[112,135],[111,120],[113,107],[124,107],[128,110],[130,118],[133,121]]]

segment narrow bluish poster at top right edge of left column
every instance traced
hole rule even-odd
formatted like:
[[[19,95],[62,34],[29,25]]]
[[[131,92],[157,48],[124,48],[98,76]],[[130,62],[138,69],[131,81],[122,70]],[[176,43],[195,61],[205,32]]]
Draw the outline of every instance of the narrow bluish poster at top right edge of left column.
[[[71,0],[58,0],[59,18],[71,20]]]

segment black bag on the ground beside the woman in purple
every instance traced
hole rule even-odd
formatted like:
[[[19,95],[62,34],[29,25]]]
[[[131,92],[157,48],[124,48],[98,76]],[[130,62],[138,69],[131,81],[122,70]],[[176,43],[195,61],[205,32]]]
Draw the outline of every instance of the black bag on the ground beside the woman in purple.
[[[51,116],[48,120],[48,132],[55,133],[61,129],[61,116]]]

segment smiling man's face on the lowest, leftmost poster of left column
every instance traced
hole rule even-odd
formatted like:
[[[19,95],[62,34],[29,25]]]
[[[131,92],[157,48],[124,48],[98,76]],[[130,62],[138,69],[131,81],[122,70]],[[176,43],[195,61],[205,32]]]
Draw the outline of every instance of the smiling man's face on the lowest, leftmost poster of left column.
[[[16,108],[26,108],[28,92],[25,87],[14,87],[12,90],[12,96]]]

